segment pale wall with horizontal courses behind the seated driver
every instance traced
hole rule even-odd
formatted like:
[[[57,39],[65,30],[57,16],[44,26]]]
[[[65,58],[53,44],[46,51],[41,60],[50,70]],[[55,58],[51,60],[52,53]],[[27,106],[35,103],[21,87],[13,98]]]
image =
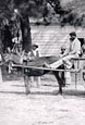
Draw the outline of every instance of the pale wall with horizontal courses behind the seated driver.
[[[85,37],[85,29],[80,27],[31,26],[32,43],[39,45],[41,56],[57,55],[71,31],[76,31],[78,37]]]

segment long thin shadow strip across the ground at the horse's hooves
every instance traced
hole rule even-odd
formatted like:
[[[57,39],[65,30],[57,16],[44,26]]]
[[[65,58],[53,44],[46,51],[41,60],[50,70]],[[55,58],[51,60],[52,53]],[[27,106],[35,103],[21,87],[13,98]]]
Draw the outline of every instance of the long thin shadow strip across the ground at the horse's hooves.
[[[26,95],[26,93],[23,92],[18,92],[18,91],[0,91],[1,94],[15,94],[15,95]],[[45,96],[58,96],[58,90],[55,91],[32,91],[28,95],[45,95]],[[28,96],[26,95],[26,96]],[[79,98],[85,98],[85,91],[82,90],[65,90],[63,91],[63,94],[61,96],[74,96],[74,97],[79,97]]]

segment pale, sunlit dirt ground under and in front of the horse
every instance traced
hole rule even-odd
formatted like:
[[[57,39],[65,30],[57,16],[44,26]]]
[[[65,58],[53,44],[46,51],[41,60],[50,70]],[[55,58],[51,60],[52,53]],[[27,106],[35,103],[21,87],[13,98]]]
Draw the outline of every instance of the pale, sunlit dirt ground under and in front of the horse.
[[[50,78],[50,80],[49,80]],[[68,84],[57,95],[54,77],[41,79],[25,95],[23,79],[0,83],[0,125],[84,125],[84,84]]]

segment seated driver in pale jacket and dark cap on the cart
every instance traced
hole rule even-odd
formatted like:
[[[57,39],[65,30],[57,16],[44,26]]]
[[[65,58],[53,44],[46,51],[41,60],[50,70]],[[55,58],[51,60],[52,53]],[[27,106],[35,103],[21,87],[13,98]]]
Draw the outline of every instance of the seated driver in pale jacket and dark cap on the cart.
[[[67,56],[63,61],[66,63],[66,68],[72,67],[72,58],[77,58],[81,55],[81,43],[77,38],[77,35],[75,32],[71,32],[69,34],[69,40],[68,40],[68,46],[66,47],[66,50],[61,55],[61,57]]]

